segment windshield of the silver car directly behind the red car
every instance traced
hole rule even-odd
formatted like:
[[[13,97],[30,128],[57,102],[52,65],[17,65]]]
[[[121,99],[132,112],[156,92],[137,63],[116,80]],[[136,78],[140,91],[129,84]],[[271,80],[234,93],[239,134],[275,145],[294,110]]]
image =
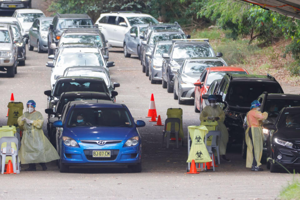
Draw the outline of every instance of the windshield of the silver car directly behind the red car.
[[[183,73],[202,73],[205,68],[223,65],[225,63],[222,61],[188,61],[185,64]]]

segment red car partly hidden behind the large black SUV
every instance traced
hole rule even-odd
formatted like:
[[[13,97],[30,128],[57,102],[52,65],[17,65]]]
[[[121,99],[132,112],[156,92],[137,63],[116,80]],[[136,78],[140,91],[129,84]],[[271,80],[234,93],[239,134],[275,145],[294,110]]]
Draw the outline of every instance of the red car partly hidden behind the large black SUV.
[[[217,79],[222,79],[226,73],[232,74],[249,74],[246,69],[238,67],[209,67],[206,68],[200,78],[194,85],[194,108],[195,112],[199,113],[202,111],[202,94],[205,94],[210,86],[210,84]]]

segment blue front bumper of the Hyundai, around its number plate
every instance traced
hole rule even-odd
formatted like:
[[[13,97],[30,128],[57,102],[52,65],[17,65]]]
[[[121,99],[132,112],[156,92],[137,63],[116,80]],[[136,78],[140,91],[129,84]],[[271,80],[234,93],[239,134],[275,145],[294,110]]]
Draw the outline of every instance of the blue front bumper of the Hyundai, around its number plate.
[[[128,165],[141,162],[141,145],[123,147],[126,140],[117,144],[89,144],[76,140],[79,147],[65,146],[61,141],[61,160],[66,165]],[[111,157],[94,158],[93,150],[109,150]]]

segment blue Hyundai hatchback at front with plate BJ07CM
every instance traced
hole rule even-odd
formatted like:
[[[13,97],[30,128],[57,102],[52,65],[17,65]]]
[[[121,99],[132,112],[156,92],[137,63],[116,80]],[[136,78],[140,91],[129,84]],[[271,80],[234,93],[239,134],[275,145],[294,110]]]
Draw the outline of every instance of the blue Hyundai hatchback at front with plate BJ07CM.
[[[57,127],[60,172],[69,166],[127,165],[142,171],[141,137],[138,127],[145,122],[133,117],[124,104],[99,100],[68,102]]]

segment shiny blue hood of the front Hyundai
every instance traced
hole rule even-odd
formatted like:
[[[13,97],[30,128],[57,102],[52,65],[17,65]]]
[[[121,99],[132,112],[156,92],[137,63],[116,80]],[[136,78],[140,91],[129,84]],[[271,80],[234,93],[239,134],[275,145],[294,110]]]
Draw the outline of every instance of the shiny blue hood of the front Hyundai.
[[[68,128],[74,140],[127,140],[138,136],[136,128],[127,127],[76,127]]]

